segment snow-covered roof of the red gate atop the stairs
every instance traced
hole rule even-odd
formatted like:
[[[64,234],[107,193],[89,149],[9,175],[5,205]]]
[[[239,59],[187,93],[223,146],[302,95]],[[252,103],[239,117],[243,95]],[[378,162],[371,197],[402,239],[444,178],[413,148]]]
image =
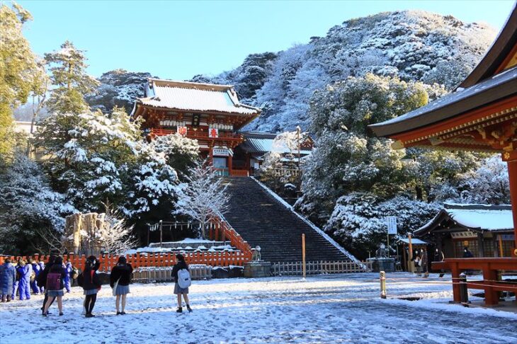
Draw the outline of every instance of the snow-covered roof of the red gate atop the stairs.
[[[233,86],[149,79],[146,98],[137,103],[157,108],[258,115],[261,110],[239,103]]]

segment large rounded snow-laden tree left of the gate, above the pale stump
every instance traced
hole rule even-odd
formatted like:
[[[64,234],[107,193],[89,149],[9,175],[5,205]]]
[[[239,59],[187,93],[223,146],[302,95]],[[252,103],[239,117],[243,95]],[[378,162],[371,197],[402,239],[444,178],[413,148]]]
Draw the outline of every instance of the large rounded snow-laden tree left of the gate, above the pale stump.
[[[52,184],[83,212],[101,202],[119,205],[125,198],[124,178],[142,140],[138,123],[118,108],[98,112],[56,113],[38,130],[35,144],[50,156]]]

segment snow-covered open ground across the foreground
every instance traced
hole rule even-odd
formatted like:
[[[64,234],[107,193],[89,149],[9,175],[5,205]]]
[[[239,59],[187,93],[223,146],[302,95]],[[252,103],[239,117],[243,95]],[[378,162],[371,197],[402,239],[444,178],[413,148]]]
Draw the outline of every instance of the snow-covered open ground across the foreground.
[[[172,290],[132,285],[127,315],[115,316],[103,287],[91,319],[77,287],[61,317],[55,305],[40,316],[42,296],[0,304],[0,343],[517,343],[517,314],[447,304],[447,276],[388,274],[387,300],[373,273],[194,281],[191,314],[176,314]]]

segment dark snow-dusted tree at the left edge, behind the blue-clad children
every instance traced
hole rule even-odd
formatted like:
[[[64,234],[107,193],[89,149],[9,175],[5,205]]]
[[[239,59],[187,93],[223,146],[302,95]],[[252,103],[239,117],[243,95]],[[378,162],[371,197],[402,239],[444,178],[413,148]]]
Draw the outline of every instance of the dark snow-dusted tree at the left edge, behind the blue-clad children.
[[[0,251],[47,251],[52,236],[60,236],[64,229],[63,215],[73,211],[62,194],[52,191],[40,166],[18,152],[0,174]]]

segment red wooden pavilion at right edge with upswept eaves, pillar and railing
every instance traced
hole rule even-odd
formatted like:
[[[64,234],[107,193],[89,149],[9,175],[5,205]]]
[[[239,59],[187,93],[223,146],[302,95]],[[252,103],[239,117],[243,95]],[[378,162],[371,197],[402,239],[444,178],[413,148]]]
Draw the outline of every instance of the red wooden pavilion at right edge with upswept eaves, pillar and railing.
[[[514,224],[513,258],[445,259],[453,281],[461,270],[482,270],[487,304],[494,291],[511,285],[497,281],[497,270],[517,270],[517,4],[506,25],[477,67],[452,93],[392,120],[370,126],[377,136],[394,139],[394,148],[487,151],[508,164]],[[470,283],[470,286],[473,286]],[[506,288],[506,289],[505,289]],[[459,299],[459,285],[454,284]]]

